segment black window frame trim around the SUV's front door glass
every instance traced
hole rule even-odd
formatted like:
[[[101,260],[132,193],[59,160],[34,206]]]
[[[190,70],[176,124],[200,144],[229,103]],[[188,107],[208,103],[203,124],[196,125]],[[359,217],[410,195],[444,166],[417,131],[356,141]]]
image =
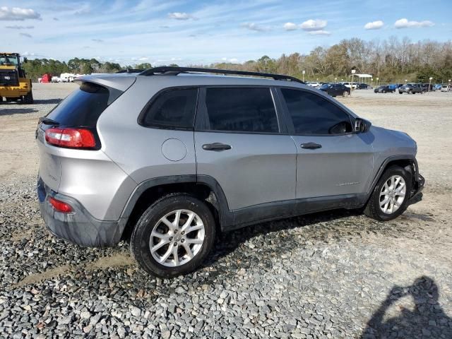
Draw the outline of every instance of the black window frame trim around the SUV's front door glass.
[[[350,113],[345,111],[340,105],[338,105],[336,102],[331,100],[326,94],[322,93],[316,93],[315,90],[309,90],[307,88],[298,88],[298,87],[291,87],[291,86],[277,86],[275,90],[277,91],[278,97],[280,97],[281,106],[283,107],[284,117],[285,117],[285,124],[287,125],[288,133],[291,136],[349,136],[351,134],[356,134],[355,131],[347,132],[347,133],[338,133],[338,134],[321,134],[321,133],[295,133],[295,126],[292,121],[292,116],[289,112],[289,107],[287,107],[287,102],[285,102],[285,98],[283,93],[281,92],[281,89],[286,88],[289,90],[299,90],[301,92],[307,92],[314,95],[318,95],[319,97],[322,97],[323,99],[327,100],[331,104],[335,105],[335,107],[338,107],[342,112],[347,114],[348,119],[350,119],[350,124],[353,126],[355,125],[355,117],[352,117]]]

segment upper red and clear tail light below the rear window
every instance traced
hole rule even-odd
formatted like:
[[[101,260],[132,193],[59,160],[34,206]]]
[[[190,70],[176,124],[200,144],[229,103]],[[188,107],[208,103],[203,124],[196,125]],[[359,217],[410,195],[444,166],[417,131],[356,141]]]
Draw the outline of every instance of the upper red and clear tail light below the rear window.
[[[94,148],[96,141],[89,129],[52,128],[45,131],[45,141],[50,145],[68,148]]]

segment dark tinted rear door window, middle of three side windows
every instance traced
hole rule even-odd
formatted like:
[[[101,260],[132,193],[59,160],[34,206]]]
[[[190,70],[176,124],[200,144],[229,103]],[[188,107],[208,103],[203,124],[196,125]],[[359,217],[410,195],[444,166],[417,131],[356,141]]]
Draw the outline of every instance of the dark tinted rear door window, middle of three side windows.
[[[207,129],[278,133],[270,88],[206,88]]]

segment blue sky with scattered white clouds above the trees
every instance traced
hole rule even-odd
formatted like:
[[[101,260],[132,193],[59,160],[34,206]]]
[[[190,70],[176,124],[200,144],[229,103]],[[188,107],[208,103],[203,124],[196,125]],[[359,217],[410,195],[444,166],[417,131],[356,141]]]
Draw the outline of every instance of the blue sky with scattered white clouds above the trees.
[[[244,62],[344,38],[452,39],[452,2],[0,0],[1,49],[120,64]]]

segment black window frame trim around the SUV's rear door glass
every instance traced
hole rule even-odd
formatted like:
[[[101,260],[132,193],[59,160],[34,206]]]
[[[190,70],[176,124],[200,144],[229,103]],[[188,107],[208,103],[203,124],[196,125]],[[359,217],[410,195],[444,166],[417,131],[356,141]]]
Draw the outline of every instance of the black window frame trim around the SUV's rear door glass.
[[[194,131],[208,133],[261,134],[268,136],[288,135],[287,126],[285,125],[283,113],[281,112],[283,108],[278,105],[278,95],[277,93],[275,93],[274,87],[275,86],[272,85],[200,85]],[[225,131],[218,129],[204,129],[202,127],[202,120],[208,119],[208,112],[206,107],[206,90],[208,88],[267,88],[270,91],[273,108],[275,109],[276,120],[278,121],[278,132]]]

